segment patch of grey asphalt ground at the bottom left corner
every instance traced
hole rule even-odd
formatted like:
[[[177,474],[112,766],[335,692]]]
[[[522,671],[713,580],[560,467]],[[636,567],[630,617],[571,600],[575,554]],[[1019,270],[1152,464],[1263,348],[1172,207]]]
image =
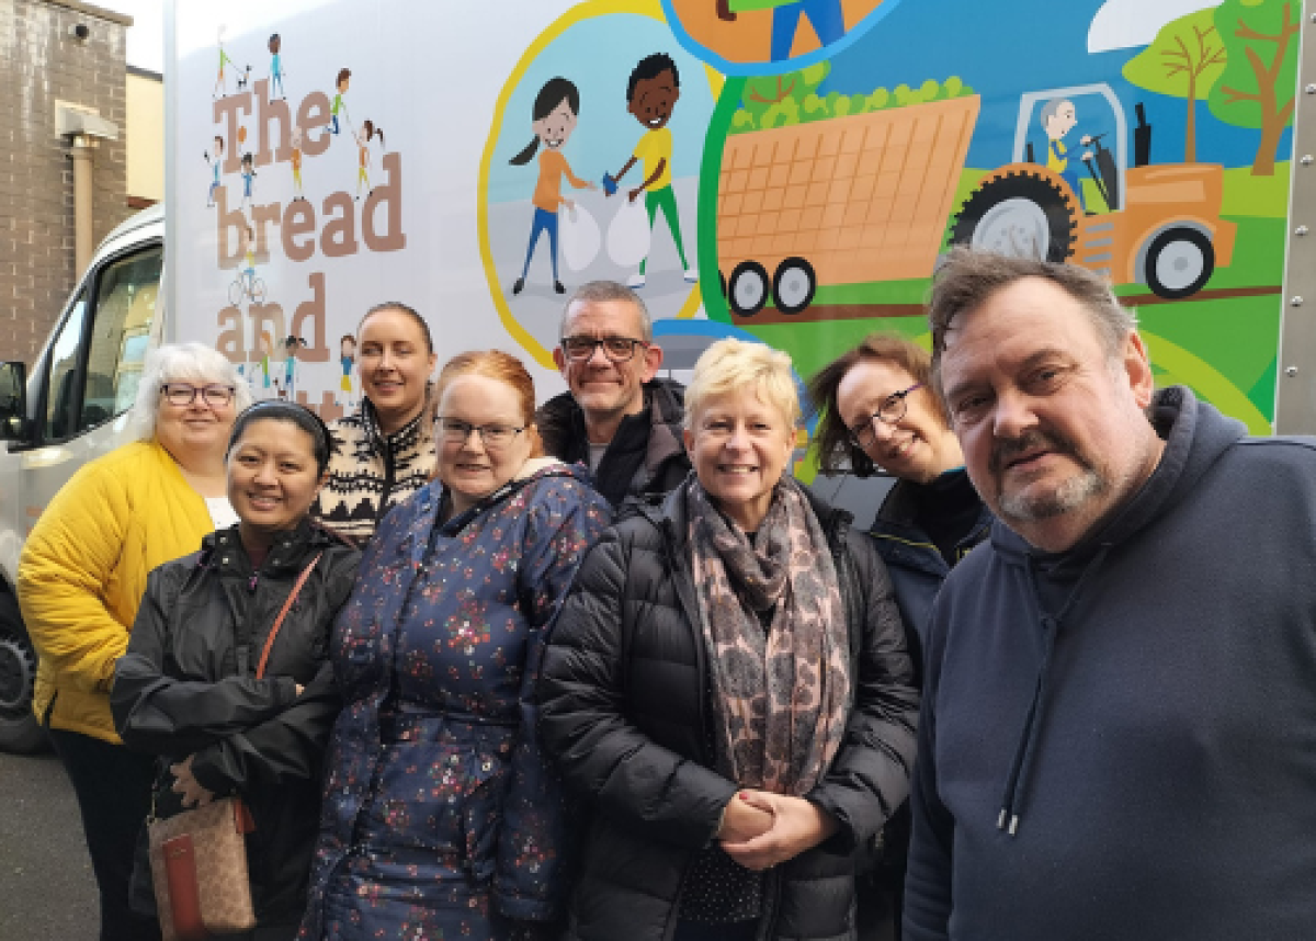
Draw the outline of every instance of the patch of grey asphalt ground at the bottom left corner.
[[[96,941],[96,878],[54,754],[0,753],[0,941]]]

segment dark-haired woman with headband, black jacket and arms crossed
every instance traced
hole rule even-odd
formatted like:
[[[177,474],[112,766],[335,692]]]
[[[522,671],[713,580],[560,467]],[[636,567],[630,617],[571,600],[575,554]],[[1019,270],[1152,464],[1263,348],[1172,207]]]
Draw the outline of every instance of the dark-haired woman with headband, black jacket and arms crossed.
[[[157,755],[154,816],[225,796],[251,812],[249,941],[297,933],[341,704],[329,630],[359,553],[308,516],[329,450],[329,430],[301,405],[271,400],[238,416],[226,459],[238,522],[151,572],[111,692],[124,742]],[[143,852],[137,865],[134,904],[153,911]]]

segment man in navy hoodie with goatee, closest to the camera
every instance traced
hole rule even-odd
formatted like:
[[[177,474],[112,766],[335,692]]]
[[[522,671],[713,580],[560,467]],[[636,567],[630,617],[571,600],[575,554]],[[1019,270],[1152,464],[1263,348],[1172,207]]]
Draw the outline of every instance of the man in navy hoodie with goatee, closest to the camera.
[[[933,375],[998,522],[929,626],[905,938],[1316,933],[1316,441],[1153,388],[1095,275],[957,249]]]

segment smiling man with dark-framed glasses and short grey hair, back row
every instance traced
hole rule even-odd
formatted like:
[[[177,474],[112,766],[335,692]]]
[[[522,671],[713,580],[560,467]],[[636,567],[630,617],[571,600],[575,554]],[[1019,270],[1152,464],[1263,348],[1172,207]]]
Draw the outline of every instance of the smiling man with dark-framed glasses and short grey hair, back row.
[[[613,509],[628,499],[661,499],[690,472],[684,388],[654,378],[662,347],[645,303],[616,282],[583,284],[567,301],[561,337],[553,361],[570,391],[536,416],[544,450],[588,465]]]

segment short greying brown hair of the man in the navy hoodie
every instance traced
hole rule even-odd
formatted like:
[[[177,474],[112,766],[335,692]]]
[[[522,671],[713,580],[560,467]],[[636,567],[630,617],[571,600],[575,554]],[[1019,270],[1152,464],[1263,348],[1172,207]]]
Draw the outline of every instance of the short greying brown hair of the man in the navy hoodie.
[[[932,382],[937,395],[942,395],[941,355],[946,351],[946,334],[955,329],[955,317],[976,311],[994,293],[1025,278],[1050,282],[1076,300],[1112,361],[1120,357],[1124,340],[1138,328],[1137,317],[1120,305],[1109,283],[1087,268],[957,246],[933,276],[932,297],[928,301]]]

